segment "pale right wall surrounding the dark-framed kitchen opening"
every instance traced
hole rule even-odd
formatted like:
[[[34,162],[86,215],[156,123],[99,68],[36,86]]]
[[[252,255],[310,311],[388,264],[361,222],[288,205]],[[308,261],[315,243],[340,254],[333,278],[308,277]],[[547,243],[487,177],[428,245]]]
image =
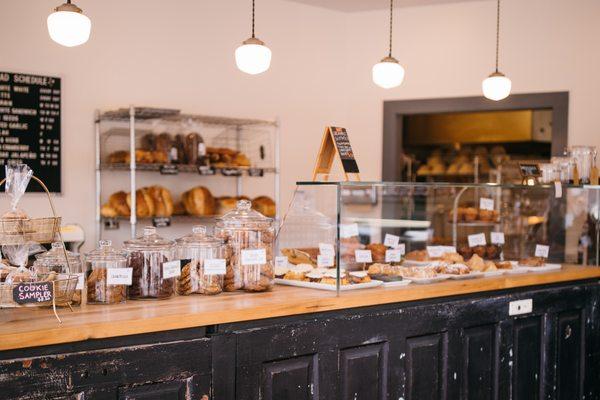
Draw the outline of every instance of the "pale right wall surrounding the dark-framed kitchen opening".
[[[500,70],[513,93],[569,91],[569,143],[600,146],[600,1],[504,0]],[[481,95],[493,72],[496,2],[400,8],[394,56],[406,70],[395,89],[376,87],[371,67],[387,54],[386,11],[347,19],[350,106],[345,126],[370,178],[381,176],[383,100]]]

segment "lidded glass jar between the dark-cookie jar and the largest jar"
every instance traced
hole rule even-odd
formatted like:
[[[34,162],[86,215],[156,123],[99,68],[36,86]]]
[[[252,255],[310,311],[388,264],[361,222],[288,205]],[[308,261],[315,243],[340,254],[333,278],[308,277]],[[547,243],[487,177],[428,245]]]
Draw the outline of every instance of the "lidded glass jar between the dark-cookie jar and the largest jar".
[[[177,258],[181,262],[177,293],[221,293],[229,259],[223,239],[207,235],[206,227],[197,225],[190,235],[175,242]]]

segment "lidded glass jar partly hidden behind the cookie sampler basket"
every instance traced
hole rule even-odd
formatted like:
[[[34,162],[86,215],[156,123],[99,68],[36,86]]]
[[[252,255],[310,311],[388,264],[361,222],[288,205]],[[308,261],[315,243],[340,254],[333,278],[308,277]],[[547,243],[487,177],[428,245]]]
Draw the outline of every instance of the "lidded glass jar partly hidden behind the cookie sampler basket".
[[[67,259],[69,260],[68,265]],[[73,294],[72,304],[81,304],[85,278],[81,257],[78,253],[66,251],[65,257],[65,249],[62,242],[54,242],[52,243],[50,250],[35,256],[32,269],[38,276],[50,272],[77,275],[77,286],[75,287],[75,292]]]

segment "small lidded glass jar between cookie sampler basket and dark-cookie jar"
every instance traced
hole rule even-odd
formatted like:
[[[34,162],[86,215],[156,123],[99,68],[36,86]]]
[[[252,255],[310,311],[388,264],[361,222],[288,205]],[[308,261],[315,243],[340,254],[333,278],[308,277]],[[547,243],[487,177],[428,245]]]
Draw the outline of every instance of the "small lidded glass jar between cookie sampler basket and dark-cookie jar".
[[[85,255],[86,287],[89,304],[116,304],[127,298],[131,284],[131,269],[123,252],[112,247],[110,240],[101,240],[99,247]]]

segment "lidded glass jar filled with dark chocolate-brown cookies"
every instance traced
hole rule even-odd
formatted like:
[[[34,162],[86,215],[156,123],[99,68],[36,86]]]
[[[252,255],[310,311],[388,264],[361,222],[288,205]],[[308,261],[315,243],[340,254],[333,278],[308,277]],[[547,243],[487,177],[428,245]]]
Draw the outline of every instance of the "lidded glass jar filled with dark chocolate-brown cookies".
[[[127,240],[127,267],[132,269],[130,299],[167,299],[175,293],[179,262],[172,262],[175,242],[160,237],[156,228],[144,228],[142,236]]]

